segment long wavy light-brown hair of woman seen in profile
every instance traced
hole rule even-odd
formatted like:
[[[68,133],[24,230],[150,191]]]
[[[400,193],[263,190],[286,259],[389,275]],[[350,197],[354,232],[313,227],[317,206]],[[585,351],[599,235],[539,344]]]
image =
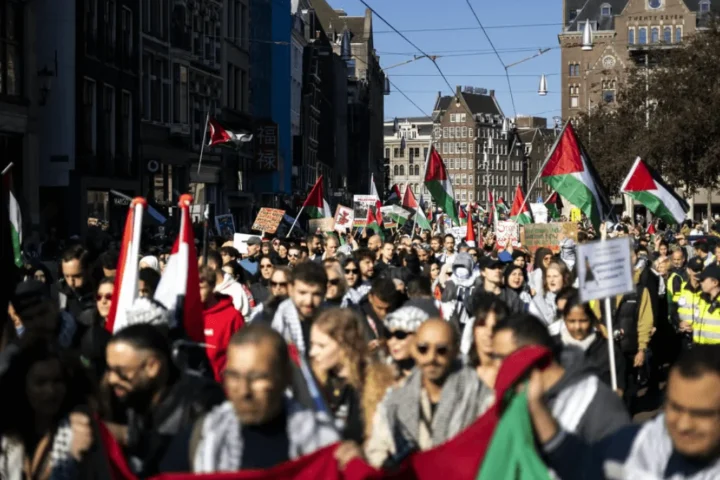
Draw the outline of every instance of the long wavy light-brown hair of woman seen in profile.
[[[368,346],[362,327],[362,318],[349,308],[330,308],[313,322],[327,336],[335,340],[343,352],[343,367],[347,369],[348,383],[362,390],[367,366]],[[319,378],[322,383],[327,378]]]

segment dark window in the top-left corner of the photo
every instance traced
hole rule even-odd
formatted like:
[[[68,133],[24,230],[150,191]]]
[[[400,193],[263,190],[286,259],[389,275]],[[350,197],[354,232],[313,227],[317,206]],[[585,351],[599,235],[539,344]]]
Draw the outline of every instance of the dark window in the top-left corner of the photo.
[[[0,2],[5,12],[0,16],[0,94],[21,96],[23,62],[24,2]]]

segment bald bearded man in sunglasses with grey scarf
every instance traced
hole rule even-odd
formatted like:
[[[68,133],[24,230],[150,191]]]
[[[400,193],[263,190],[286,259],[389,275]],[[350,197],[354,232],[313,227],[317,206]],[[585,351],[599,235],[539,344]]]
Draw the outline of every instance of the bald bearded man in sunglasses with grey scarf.
[[[414,450],[445,443],[482,415],[493,392],[458,360],[458,336],[441,319],[426,320],[415,334],[417,368],[378,405],[365,445],[375,467],[392,466]]]

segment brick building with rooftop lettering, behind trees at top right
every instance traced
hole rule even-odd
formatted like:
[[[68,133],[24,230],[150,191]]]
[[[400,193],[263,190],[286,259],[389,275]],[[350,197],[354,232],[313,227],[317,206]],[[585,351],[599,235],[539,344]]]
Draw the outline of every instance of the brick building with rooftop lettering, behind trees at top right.
[[[654,52],[680,45],[706,28],[718,9],[717,0],[563,0],[564,27],[558,35],[563,118],[572,119],[600,102],[615,103],[626,68],[652,68]],[[583,49],[588,22],[593,46]],[[700,190],[688,200],[690,215],[699,218],[708,204],[720,202],[720,195]],[[621,203],[619,197],[616,203]],[[622,208],[632,215],[629,200]]]

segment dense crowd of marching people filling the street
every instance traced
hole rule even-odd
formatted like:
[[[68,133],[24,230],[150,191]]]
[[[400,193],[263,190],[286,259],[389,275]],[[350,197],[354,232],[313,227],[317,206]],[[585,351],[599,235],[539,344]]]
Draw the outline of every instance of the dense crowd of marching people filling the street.
[[[57,271],[34,258],[10,287],[0,478],[110,478],[103,438],[137,478],[267,469],[337,442],[341,469],[393,469],[488,411],[499,367],[531,346],[552,360],[518,388],[558,478],[720,478],[720,245],[690,230],[581,225],[534,251],[491,225],[477,244],[317,233],[241,254],[211,238],[203,342],[154,298],[169,248],[141,247],[129,326],[109,331],[117,245],[55,240]],[[613,237],[632,240],[636,288],[612,299],[609,330],[580,299],[575,246]]]

